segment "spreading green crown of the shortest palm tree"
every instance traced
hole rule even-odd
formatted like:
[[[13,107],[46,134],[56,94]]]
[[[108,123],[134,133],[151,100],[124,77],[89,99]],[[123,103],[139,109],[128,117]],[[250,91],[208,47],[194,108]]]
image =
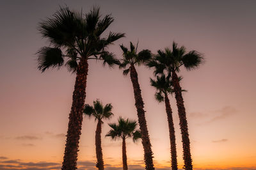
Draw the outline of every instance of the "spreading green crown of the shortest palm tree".
[[[138,141],[138,139],[141,138],[141,133],[139,130],[136,130],[136,127],[138,126],[136,121],[132,120],[124,120],[124,118],[118,119],[118,124],[116,123],[109,123],[109,127],[112,129],[109,130],[108,134],[106,136],[111,137],[112,139],[116,140],[118,138],[127,139],[129,137],[132,137],[132,140],[134,142]]]

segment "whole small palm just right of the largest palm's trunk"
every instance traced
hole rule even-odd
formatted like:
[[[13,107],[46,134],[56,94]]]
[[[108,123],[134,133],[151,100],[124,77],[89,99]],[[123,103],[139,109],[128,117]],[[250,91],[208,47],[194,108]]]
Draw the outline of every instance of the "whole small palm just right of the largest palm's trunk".
[[[93,101],[93,106],[86,104],[84,106],[84,114],[89,118],[95,118],[95,121],[98,121],[97,128],[95,132],[95,146],[96,146],[96,156],[97,156],[97,164],[96,167],[100,170],[104,169],[104,162],[102,158],[102,148],[101,148],[101,125],[103,123],[102,120],[109,120],[113,113],[112,105],[106,104],[104,107],[102,103],[97,99]]]

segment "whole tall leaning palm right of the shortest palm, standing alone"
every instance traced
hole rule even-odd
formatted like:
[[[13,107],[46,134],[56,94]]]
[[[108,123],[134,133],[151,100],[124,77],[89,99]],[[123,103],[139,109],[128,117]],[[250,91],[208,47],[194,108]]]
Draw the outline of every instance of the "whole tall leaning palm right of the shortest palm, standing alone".
[[[138,82],[138,73],[136,72],[135,65],[141,65],[146,63],[152,56],[150,50],[141,50],[137,54],[138,43],[136,47],[130,42],[130,50],[128,50],[124,45],[120,45],[123,50],[123,58],[121,59],[121,64],[119,68],[125,68],[123,74],[127,75],[130,72],[130,77],[132,81],[135,106],[137,109],[138,121],[141,131],[142,145],[144,149],[144,161],[146,169],[154,169],[153,164],[153,153],[151,150],[150,139],[148,135],[147,121],[145,118],[145,111],[143,109],[144,103],[141,97],[140,84]],[[128,66],[128,68],[126,68]]]

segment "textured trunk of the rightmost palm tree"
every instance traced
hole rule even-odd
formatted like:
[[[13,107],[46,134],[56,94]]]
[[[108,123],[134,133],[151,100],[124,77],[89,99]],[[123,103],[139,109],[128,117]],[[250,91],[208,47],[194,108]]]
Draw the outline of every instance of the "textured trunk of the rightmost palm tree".
[[[186,111],[184,107],[184,101],[181,94],[181,88],[179,83],[179,78],[176,72],[172,72],[173,88],[175,92],[175,98],[177,102],[179,119],[180,119],[180,130],[182,135],[182,145],[183,145],[183,159],[184,159],[184,169],[191,170],[192,159],[190,153],[190,142],[188,134],[188,122],[186,118]]]

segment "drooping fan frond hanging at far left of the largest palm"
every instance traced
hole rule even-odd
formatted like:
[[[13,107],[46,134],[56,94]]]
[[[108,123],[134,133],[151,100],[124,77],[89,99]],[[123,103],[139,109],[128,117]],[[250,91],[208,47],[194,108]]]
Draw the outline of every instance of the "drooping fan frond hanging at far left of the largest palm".
[[[59,48],[42,47],[36,52],[38,70],[44,72],[47,68],[60,68],[63,65],[63,54]]]

